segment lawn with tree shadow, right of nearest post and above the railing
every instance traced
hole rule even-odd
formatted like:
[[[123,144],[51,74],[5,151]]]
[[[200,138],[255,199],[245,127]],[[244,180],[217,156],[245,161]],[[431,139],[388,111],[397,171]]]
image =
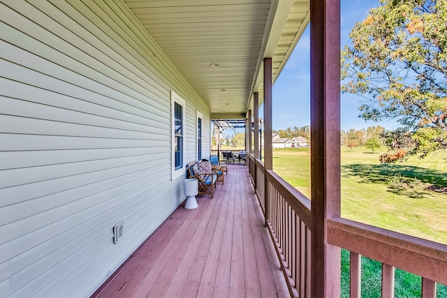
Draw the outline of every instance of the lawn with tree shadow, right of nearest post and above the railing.
[[[342,148],[342,216],[447,244],[447,163],[441,154],[382,165],[379,154]]]

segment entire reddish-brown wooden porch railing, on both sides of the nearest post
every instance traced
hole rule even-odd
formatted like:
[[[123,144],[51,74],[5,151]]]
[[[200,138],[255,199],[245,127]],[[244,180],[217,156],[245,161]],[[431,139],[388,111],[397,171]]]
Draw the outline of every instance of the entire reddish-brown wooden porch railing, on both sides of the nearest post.
[[[292,297],[310,297],[311,203],[250,155],[249,174]],[[266,191],[265,191],[266,190]],[[328,244],[351,251],[351,297],[360,297],[361,256],[382,262],[382,297],[394,297],[395,267],[422,276],[422,297],[447,284],[447,246],[346,218],[328,221]]]

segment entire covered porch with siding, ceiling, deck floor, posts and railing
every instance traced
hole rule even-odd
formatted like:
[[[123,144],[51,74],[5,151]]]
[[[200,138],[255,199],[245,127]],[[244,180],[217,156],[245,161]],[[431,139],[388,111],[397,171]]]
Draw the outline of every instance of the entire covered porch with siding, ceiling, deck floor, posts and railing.
[[[422,277],[423,297],[447,284],[446,245],[341,216],[339,0],[1,8],[3,296],[339,297],[341,248],[351,297],[362,255],[383,264],[382,297],[395,268]],[[312,202],[258,137],[309,22]],[[210,156],[212,119],[243,119],[247,165],[184,210],[184,165]]]

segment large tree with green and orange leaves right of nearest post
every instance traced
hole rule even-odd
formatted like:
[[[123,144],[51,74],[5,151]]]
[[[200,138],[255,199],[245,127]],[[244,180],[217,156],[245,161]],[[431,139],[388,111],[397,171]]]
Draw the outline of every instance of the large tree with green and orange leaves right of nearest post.
[[[411,139],[388,142],[392,161],[422,158],[447,149],[447,0],[380,2],[342,51],[342,91],[364,98],[359,117],[397,119],[408,132],[387,133]]]

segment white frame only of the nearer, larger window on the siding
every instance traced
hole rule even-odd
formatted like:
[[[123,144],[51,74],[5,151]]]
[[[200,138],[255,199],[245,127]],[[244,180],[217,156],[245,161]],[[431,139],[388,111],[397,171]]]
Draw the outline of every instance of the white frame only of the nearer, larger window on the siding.
[[[183,133],[183,150],[182,150],[182,167],[175,170],[175,103],[182,105],[182,133]],[[171,105],[171,180],[178,177],[185,176],[186,174],[186,101],[176,94],[174,91],[170,91],[170,105]]]

